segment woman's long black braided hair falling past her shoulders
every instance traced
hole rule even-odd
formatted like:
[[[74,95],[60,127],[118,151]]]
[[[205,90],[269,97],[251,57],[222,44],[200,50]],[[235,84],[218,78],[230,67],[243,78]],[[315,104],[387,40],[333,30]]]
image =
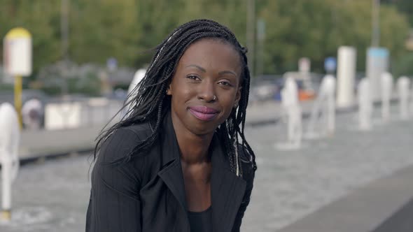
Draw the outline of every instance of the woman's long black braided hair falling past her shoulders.
[[[153,133],[146,140],[141,141],[122,160],[130,161],[138,153],[148,150],[158,138],[164,113],[170,108],[171,99],[167,97],[166,90],[172,80],[179,59],[189,45],[201,38],[212,38],[232,45],[239,52],[241,71],[241,98],[237,108],[233,108],[228,119],[218,126],[217,133],[223,138],[225,150],[230,160],[231,171],[238,176],[242,175],[241,159],[238,156],[239,149],[244,154],[249,154],[253,168],[256,169],[255,154],[248,145],[244,136],[244,125],[246,106],[248,105],[248,94],[250,85],[250,74],[246,58],[246,48],[242,47],[235,35],[227,27],[212,20],[193,20],[176,28],[172,34],[155,48],[155,56],[144,78],[135,89],[127,96],[125,105],[120,110],[127,111],[120,122],[113,124],[102,131],[94,150],[94,159],[97,157],[102,143],[109,138],[113,132],[125,126],[149,122]],[[241,140],[241,141],[239,141]],[[241,143],[239,143],[241,142]],[[247,156],[248,157],[248,156]],[[244,160],[245,162],[245,160]]]

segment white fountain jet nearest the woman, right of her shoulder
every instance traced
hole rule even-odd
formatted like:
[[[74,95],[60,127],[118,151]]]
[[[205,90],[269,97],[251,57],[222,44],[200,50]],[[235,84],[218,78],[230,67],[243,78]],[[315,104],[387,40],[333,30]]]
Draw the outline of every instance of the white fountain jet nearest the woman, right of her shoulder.
[[[280,149],[299,149],[302,140],[302,113],[298,102],[297,82],[294,78],[286,78],[281,90],[281,105],[287,116],[287,143],[277,146]]]

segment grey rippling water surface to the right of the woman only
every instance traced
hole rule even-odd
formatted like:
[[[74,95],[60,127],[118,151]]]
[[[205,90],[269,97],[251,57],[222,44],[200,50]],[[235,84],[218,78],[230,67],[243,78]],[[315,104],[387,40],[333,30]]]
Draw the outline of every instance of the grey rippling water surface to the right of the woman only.
[[[296,151],[274,146],[285,140],[283,124],[248,129],[258,172],[243,231],[276,231],[372,180],[413,168],[413,119],[394,119],[392,108],[393,119],[375,119],[372,131],[358,131],[354,113],[339,114],[334,136],[304,140]]]

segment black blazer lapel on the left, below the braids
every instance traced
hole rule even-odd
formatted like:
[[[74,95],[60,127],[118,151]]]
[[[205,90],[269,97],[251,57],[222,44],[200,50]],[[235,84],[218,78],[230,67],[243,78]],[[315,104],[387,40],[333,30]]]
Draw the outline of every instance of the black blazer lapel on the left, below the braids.
[[[181,152],[179,152],[178,142],[172,125],[171,114],[167,113],[164,117],[161,138],[161,157],[162,157],[162,169],[158,172],[158,175],[165,182],[169,190],[179,201],[179,204],[183,210],[187,210],[186,207],[186,194],[185,186],[183,185],[183,174],[181,168]]]

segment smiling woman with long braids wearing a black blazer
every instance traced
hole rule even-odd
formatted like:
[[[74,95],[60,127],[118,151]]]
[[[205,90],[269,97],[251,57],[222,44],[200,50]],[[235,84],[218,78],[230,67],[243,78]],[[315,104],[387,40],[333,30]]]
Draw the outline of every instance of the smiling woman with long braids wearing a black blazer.
[[[249,82],[228,28],[175,29],[130,111],[98,140],[86,231],[239,231],[256,169],[244,137]]]

